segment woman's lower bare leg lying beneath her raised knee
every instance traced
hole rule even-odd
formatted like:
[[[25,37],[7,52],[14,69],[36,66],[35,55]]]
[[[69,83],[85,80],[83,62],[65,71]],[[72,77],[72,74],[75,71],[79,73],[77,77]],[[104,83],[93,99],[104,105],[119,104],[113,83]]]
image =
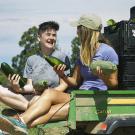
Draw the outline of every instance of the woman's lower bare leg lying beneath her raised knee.
[[[46,124],[49,121],[65,120],[68,116],[68,110],[69,103],[53,105],[48,113],[29,123],[29,127],[34,127],[39,124]]]

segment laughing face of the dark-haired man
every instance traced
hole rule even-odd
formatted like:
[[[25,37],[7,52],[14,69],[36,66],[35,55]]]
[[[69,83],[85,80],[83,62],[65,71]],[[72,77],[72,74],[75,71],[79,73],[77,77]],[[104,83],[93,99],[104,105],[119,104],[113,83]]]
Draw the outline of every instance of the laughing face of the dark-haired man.
[[[54,49],[57,39],[57,31],[55,29],[47,29],[39,36],[42,47]]]

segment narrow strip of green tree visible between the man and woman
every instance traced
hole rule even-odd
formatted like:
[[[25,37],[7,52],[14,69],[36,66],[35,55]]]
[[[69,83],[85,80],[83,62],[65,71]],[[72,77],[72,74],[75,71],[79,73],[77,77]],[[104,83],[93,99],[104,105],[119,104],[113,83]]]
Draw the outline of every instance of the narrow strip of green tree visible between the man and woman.
[[[80,52],[80,41],[78,37],[75,37],[72,40],[72,54],[71,54],[71,65],[72,67],[74,67],[74,64],[77,60],[77,58],[79,57],[79,52]]]

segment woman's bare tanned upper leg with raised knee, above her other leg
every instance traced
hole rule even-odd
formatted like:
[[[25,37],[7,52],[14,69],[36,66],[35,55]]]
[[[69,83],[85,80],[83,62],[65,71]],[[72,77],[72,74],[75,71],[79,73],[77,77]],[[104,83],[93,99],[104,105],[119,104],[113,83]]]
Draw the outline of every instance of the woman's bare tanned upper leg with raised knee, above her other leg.
[[[64,92],[47,89],[22,115],[21,118],[26,124],[46,114],[52,105],[66,103],[70,95]]]

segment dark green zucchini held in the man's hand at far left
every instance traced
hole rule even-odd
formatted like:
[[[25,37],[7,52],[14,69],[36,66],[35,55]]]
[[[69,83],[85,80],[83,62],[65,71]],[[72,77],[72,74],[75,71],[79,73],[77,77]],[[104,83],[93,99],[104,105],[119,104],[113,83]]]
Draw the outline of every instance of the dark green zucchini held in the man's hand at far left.
[[[15,72],[14,69],[12,69],[7,63],[3,62],[1,63],[1,70],[2,72],[8,77],[9,74],[11,74],[11,76],[13,74],[18,74],[17,72]],[[20,76],[20,81],[19,81],[19,85],[20,87],[24,87],[24,85],[27,83],[27,78],[23,78],[22,76]]]

